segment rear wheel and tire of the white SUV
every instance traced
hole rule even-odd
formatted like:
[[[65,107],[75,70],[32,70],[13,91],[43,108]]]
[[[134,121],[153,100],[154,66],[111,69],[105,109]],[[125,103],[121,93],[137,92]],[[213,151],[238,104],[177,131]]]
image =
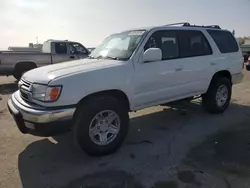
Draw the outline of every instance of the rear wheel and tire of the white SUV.
[[[202,96],[202,105],[209,113],[223,113],[229,106],[231,94],[231,81],[226,77],[217,77],[210,84],[207,93]]]

